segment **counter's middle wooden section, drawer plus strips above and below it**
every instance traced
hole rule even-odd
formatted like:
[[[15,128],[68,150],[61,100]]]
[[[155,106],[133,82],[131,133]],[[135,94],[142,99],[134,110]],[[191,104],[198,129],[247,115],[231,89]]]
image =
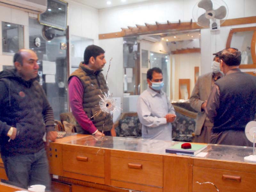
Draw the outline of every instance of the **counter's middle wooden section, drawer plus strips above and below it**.
[[[111,151],[110,154],[110,177],[113,186],[141,191],[163,191],[162,156],[142,156],[127,151]]]

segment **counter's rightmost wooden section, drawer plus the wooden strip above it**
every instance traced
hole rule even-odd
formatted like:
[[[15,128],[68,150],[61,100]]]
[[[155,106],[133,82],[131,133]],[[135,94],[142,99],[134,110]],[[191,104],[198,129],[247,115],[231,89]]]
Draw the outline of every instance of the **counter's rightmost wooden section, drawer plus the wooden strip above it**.
[[[256,165],[194,159],[193,192],[216,191],[212,184],[200,185],[197,182],[211,182],[225,192],[251,192],[256,188]]]

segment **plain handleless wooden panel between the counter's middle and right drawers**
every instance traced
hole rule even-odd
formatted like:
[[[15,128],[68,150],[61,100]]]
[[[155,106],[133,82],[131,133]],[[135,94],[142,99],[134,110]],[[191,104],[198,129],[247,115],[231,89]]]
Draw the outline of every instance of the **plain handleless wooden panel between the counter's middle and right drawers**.
[[[163,192],[188,192],[192,183],[192,159],[189,156],[164,156]]]

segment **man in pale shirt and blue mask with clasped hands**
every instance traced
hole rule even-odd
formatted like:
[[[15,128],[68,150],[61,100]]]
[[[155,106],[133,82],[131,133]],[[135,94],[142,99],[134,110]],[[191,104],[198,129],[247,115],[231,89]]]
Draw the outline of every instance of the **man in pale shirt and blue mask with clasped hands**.
[[[172,122],[175,110],[165,92],[163,73],[160,68],[148,69],[148,89],[141,93],[137,112],[142,124],[142,138],[172,140]]]

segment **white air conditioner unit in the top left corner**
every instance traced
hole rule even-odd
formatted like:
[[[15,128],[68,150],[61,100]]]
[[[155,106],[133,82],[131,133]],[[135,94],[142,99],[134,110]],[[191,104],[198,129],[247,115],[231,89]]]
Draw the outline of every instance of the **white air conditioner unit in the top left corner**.
[[[47,0],[0,0],[0,5],[40,14],[47,9]]]

